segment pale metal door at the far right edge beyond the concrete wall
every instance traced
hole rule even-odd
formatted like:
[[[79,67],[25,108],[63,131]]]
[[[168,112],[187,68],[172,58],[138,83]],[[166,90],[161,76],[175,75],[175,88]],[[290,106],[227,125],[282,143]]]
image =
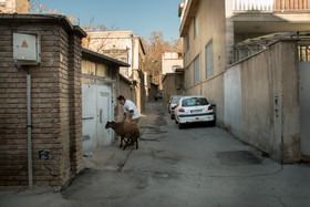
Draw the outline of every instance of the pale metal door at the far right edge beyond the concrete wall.
[[[310,62],[299,65],[300,151],[310,156]]]

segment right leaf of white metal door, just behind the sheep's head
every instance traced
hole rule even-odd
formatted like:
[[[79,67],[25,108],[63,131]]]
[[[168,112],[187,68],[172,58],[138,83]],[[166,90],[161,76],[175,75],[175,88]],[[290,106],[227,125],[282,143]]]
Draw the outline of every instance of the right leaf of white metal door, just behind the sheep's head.
[[[112,132],[105,130],[105,124],[111,121],[111,92],[108,86],[97,86],[97,141],[99,145],[112,144]]]

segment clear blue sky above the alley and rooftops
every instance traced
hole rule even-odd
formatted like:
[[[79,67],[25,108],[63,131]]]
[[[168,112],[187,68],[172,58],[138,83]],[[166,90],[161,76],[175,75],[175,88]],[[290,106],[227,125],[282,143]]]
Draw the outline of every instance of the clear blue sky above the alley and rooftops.
[[[179,38],[179,2],[184,0],[37,0],[45,11],[58,10],[80,19],[81,27],[93,19],[94,25],[133,31],[145,39],[153,31],[162,31],[166,41]]]

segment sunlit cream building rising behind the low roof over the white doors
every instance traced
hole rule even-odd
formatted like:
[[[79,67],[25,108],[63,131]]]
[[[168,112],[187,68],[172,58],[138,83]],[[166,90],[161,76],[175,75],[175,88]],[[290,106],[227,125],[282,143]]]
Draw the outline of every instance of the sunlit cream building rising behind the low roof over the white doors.
[[[140,112],[145,108],[144,59],[145,51],[140,37],[132,31],[89,32],[83,48],[105,54],[130,64],[121,68],[120,73],[135,81],[134,103]]]

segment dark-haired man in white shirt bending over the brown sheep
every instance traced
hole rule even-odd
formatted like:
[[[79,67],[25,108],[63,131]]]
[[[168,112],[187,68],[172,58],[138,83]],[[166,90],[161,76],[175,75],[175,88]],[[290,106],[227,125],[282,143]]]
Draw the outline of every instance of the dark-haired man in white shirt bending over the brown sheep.
[[[120,104],[123,105],[123,110],[124,110],[123,122],[127,117],[131,122],[135,122],[137,124],[140,121],[140,114],[136,105],[131,100],[126,100],[123,95],[120,95],[117,97],[117,101]]]

